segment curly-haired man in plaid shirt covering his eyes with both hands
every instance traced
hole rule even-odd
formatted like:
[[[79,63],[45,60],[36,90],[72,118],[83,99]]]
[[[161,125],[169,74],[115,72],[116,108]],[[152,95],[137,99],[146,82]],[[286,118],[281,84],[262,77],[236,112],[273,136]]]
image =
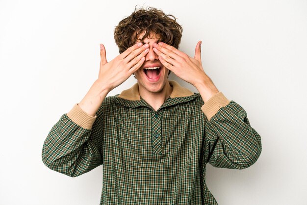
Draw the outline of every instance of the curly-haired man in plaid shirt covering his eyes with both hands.
[[[45,140],[46,166],[77,177],[103,164],[101,204],[216,205],[205,165],[244,169],[261,153],[245,110],[205,74],[201,41],[195,56],[178,50],[182,28],[155,8],[137,9],[115,28],[120,55]],[[169,72],[194,85],[192,93]],[[137,83],[106,97],[132,74]]]

